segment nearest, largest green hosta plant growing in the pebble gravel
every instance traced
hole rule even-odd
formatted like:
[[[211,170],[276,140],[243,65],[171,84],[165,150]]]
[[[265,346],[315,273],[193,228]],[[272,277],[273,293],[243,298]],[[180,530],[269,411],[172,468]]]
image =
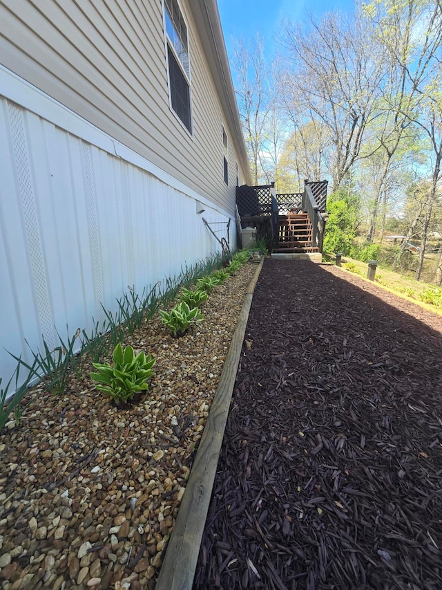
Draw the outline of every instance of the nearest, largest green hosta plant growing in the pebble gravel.
[[[153,375],[152,367],[155,358],[140,352],[135,356],[133,348],[127,346],[124,351],[121,344],[117,344],[112,355],[113,367],[108,363],[101,365],[94,362],[96,373],[90,373],[93,380],[104,385],[97,385],[97,389],[111,396],[116,403],[127,403],[137,391],[148,389],[147,380]]]

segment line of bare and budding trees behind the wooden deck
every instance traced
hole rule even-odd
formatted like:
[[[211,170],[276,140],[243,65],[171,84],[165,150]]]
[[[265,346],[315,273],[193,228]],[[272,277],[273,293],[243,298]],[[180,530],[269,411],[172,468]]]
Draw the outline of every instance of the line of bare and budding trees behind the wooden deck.
[[[398,258],[419,237],[417,279],[429,235],[442,233],[441,4],[372,0],[352,14],[285,21],[271,62],[261,35],[234,40],[253,182],[299,192],[305,178],[329,179],[368,244],[402,219]]]

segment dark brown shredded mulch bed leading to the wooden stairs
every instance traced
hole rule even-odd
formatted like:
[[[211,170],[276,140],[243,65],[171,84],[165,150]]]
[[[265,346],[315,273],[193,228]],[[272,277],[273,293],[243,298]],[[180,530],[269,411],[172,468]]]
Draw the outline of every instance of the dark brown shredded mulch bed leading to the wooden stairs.
[[[265,261],[195,588],[442,588],[442,335],[372,293]]]

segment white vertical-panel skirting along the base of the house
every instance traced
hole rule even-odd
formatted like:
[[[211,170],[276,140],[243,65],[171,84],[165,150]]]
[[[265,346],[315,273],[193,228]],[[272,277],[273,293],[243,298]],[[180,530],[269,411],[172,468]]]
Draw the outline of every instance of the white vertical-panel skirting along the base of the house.
[[[127,286],[141,292],[219,251],[202,216],[227,222],[231,214],[4,68],[1,94],[6,380],[16,364],[6,350],[29,361],[25,339],[35,350],[41,335],[55,346],[56,329],[66,338],[66,324],[70,335],[90,331],[103,316],[100,304],[115,311]]]

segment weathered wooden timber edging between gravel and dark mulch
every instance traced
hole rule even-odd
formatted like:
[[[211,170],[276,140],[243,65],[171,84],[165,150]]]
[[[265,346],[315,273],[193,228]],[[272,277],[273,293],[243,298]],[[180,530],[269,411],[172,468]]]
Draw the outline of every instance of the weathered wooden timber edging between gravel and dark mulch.
[[[213,481],[220,457],[224,429],[235,386],[236,373],[249,311],[256,282],[261,272],[262,257],[244,294],[244,302],[229,351],[222,367],[220,382],[211,405],[209,418],[202,434],[186,491],[178,510],[177,519],[166,555],[155,585],[155,590],[191,590],[207,512],[212,495]]]

